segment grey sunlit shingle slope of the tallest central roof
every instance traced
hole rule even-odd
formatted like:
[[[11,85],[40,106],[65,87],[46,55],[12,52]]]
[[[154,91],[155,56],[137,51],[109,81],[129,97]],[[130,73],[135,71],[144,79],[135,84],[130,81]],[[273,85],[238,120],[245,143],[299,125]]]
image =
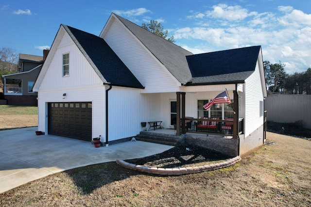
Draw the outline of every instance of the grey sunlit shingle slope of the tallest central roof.
[[[148,48],[180,83],[184,84],[191,80],[191,73],[186,56],[192,55],[193,53],[143,29],[121,16],[114,15],[118,17],[125,27]]]

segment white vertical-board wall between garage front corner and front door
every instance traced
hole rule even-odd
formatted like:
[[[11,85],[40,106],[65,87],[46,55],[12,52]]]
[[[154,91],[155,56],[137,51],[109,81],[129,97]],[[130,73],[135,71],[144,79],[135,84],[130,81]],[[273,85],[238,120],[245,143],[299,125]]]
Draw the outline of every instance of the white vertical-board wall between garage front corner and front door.
[[[160,94],[140,94],[139,89],[112,86],[108,92],[109,141],[136,136],[141,122],[161,120]]]

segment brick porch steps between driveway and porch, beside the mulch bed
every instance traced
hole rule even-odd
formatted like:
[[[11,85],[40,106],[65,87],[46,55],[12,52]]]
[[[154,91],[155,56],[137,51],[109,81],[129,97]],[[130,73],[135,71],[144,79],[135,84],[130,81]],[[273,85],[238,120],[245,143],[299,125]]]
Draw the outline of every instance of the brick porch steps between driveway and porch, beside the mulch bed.
[[[138,141],[166,144],[171,146],[175,146],[176,143],[181,141],[180,136],[172,134],[149,133],[146,131],[141,131],[135,138]]]

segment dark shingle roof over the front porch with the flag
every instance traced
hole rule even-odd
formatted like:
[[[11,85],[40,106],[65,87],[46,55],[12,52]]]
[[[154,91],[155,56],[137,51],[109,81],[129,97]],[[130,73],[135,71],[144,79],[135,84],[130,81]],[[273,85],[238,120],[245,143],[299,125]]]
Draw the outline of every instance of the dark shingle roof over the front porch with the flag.
[[[260,46],[187,56],[192,74],[189,84],[243,82],[254,71]]]

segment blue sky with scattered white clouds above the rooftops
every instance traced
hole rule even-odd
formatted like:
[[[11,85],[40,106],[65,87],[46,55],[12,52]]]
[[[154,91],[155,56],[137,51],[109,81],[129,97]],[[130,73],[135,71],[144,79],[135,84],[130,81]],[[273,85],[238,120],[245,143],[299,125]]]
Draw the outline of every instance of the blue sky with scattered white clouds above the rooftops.
[[[0,0],[0,48],[42,56],[60,24],[99,35],[112,12],[157,20],[195,54],[261,45],[289,74],[311,67],[311,0]]]

